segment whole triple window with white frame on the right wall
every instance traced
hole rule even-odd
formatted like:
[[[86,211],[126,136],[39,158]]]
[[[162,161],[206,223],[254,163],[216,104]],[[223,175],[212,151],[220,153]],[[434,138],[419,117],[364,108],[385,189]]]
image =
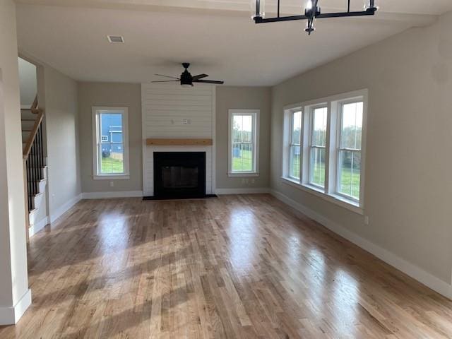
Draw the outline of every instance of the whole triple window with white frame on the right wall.
[[[283,182],[363,213],[367,95],[285,107]]]

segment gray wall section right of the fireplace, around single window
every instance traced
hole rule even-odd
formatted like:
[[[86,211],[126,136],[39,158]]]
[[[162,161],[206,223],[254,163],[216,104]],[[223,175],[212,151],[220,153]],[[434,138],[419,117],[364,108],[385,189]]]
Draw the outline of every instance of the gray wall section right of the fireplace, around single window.
[[[267,188],[270,178],[270,88],[217,87],[216,98],[216,181],[217,189]],[[259,177],[227,176],[229,109],[260,109]],[[248,179],[248,183],[242,182]],[[252,180],[254,179],[254,183]]]

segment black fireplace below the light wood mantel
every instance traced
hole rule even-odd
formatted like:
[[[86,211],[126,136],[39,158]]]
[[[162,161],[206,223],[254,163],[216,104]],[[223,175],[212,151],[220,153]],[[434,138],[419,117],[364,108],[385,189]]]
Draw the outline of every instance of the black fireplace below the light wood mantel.
[[[206,196],[206,152],[154,152],[155,198]]]

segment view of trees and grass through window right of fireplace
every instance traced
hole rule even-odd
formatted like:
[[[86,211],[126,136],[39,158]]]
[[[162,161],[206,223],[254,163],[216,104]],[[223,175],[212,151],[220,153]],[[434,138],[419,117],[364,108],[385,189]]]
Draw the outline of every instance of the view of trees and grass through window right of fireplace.
[[[253,129],[252,114],[232,116],[232,172],[254,171]]]

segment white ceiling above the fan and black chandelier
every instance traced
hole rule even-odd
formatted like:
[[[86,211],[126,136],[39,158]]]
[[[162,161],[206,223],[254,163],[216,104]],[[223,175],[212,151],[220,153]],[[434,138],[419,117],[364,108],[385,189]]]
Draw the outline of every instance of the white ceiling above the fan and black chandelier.
[[[226,85],[275,85],[452,10],[451,0],[429,6],[424,0],[377,0],[375,18],[317,20],[308,37],[304,21],[254,24],[249,0],[18,2],[20,52],[76,80],[161,80],[153,74],[178,76],[179,64],[187,61],[192,74],[208,73]],[[293,5],[303,2],[282,0],[284,13],[299,13]],[[320,0],[324,12],[345,2]],[[273,11],[267,3],[267,12]],[[352,4],[362,8],[363,1]],[[110,44],[107,35],[122,35],[125,43]]]

